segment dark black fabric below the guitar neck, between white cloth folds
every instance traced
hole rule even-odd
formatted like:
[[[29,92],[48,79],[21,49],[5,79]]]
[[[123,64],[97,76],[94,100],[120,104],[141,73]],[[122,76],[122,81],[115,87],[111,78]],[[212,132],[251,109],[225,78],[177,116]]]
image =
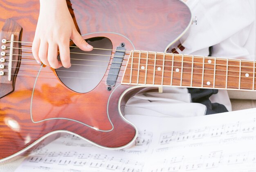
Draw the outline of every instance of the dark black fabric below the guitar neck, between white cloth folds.
[[[188,88],[193,103],[201,103],[207,107],[206,115],[228,112],[227,108],[220,103],[211,103],[209,97],[218,93],[218,89]]]

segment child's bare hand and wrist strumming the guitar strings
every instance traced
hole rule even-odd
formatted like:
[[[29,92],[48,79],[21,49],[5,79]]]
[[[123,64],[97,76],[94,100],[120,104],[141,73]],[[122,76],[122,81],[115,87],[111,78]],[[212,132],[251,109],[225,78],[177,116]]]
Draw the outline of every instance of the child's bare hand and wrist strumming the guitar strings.
[[[54,69],[70,67],[70,39],[83,51],[91,51],[93,48],[76,30],[66,0],[40,0],[40,13],[32,45],[36,61]],[[57,59],[58,49],[61,61]]]

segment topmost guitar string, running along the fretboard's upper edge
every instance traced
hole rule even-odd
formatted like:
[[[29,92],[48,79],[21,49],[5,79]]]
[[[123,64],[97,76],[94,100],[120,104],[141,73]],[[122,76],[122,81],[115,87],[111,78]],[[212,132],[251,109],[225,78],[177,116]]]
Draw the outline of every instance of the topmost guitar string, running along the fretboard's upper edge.
[[[11,41],[7,41],[7,42],[11,42]],[[12,42],[21,42],[21,43],[29,43],[29,44],[32,44],[33,42],[22,42],[22,41],[12,41]],[[77,46],[70,46],[70,47],[77,47]],[[79,47],[77,47],[77,48],[79,48]],[[93,49],[101,49],[101,48],[93,48]],[[116,49],[101,49],[101,50],[108,50],[108,51],[123,51],[123,52],[132,52],[132,51],[125,51],[125,50],[116,50]],[[134,51],[134,52],[139,52],[139,51]],[[153,55],[155,55],[155,52],[152,52],[152,51],[141,51],[141,52],[143,52],[143,53],[148,53],[148,54],[153,54]],[[160,53],[160,52],[157,52],[158,54],[170,54],[170,55],[173,55],[173,53]],[[182,54],[174,54],[175,56],[184,56],[184,55],[182,55]],[[190,57],[193,57],[192,55],[186,55],[186,56],[190,56]],[[209,59],[217,59],[217,60],[227,60],[227,58],[217,58],[217,57],[209,57],[209,56],[194,56],[194,57],[196,57],[196,58],[209,58]],[[209,59],[207,59],[207,60],[209,60]],[[231,58],[229,58],[229,61],[235,61],[235,62],[240,62],[240,60],[238,60],[238,59],[231,59]],[[245,60],[246,62],[248,62],[248,63],[253,63],[254,61],[250,61],[250,60]],[[254,62],[255,63],[255,62]]]

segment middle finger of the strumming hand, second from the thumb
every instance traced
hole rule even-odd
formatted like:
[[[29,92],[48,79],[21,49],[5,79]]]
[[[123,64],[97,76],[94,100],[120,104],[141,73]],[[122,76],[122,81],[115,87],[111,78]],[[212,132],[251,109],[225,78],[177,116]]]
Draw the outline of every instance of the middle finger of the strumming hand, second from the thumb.
[[[61,62],[58,61],[57,56],[58,56],[58,45],[49,43],[47,60],[49,65],[54,69],[61,67]]]

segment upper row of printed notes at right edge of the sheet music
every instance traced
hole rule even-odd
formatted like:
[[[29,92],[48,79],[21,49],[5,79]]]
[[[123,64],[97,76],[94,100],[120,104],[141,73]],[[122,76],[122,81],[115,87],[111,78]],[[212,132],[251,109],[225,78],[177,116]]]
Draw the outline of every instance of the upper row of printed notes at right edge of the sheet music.
[[[254,139],[252,132],[255,132],[256,120],[253,118],[250,121],[237,121],[225,125],[216,125],[210,127],[195,128],[182,131],[162,132],[159,139],[160,145],[191,145],[195,143],[201,145],[207,139],[205,144],[229,143],[234,140]],[[249,133],[249,134],[247,134]],[[182,143],[184,142],[184,143]]]

